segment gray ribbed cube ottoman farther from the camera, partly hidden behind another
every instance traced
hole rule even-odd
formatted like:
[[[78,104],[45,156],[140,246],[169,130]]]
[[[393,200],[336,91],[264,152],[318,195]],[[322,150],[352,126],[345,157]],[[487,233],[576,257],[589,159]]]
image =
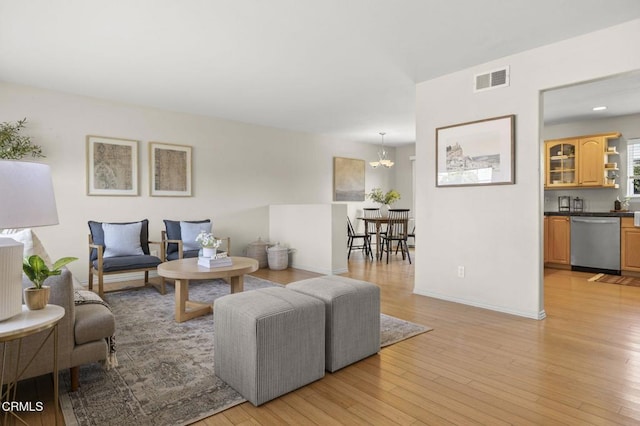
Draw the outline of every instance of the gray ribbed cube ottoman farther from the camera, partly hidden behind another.
[[[326,306],[325,368],[334,372],[380,350],[380,288],[336,275],[287,286]]]

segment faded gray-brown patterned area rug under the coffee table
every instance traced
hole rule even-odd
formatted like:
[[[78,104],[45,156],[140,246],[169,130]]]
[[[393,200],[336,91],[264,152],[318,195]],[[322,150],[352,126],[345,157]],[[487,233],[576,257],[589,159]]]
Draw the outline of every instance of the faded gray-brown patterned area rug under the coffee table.
[[[245,276],[245,291],[274,285]],[[119,366],[81,367],[76,392],[68,391],[68,371],[61,374],[66,425],[183,425],[245,401],[214,374],[213,315],[177,323],[173,291],[168,285],[164,296],[153,288],[106,295],[116,316]],[[228,293],[221,280],[189,286],[193,300],[213,302]],[[431,330],[384,314],[380,320],[382,346]]]

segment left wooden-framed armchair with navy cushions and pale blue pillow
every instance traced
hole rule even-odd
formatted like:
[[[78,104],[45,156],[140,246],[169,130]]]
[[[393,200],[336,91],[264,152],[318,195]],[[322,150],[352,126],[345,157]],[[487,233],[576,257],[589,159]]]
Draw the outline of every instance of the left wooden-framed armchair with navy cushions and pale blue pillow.
[[[94,275],[98,276],[98,294],[104,296],[104,276],[144,272],[144,285],[153,286],[165,294],[164,280],[149,282],[149,271],[155,271],[162,261],[152,256],[149,244],[149,221],[106,223],[89,221],[89,290],[93,290]]]

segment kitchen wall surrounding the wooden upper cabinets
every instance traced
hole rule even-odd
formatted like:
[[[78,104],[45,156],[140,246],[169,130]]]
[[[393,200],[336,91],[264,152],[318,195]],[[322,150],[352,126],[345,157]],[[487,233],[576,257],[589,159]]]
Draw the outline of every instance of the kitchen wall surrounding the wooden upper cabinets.
[[[591,135],[596,133],[620,132],[619,139],[612,139],[609,145],[617,147],[620,155],[611,157],[611,161],[618,163],[620,177],[619,189],[564,189],[548,190],[544,192],[544,210],[558,211],[558,197],[568,195],[572,198],[580,197],[584,200],[585,211],[609,211],[613,209],[613,203],[617,197],[624,199],[627,192],[627,139],[640,138],[640,114],[627,115],[615,118],[601,118],[598,120],[583,120],[573,123],[545,126],[543,139],[560,139],[571,136]],[[640,200],[633,199],[629,204],[630,210],[640,210]]]

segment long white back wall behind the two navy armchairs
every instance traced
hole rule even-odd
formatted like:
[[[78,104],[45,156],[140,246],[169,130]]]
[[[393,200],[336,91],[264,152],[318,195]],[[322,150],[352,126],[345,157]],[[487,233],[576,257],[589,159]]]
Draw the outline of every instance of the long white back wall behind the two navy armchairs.
[[[27,117],[24,134],[43,147],[52,166],[60,224],[36,229],[52,258],[87,280],[88,220],[148,218],[159,241],[163,219],[211,218],[214,231],[232,239],[232,254],[269,238],[268,206],[331,203],[333,157],[371,160],[377,145],[336,140],[210,117],[114,103],[0,82],[0,121]],[[86,195],[86,136],[139,140],[141,194]],[[193,146],[193,197],[150,197],[148,143]],[[394,150],[390,149],[392,157]],[[367,190],[388,187],[394,175],[366,169]],[[347,203],[356,211],[366,203]],[[345,230],[346,233],[346,230]]]

